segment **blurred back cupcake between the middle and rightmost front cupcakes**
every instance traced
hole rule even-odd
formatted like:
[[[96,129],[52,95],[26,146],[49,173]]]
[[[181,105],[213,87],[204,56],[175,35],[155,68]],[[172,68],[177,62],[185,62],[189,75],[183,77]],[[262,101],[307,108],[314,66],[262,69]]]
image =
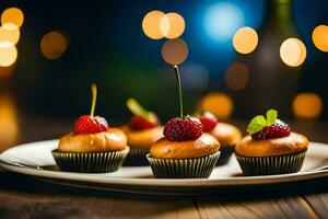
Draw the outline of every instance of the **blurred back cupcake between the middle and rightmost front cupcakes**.
[[[226,164],[235,151],[236,143],[242,139],[239,129],[226,123],[218,123],[218,118],[210,112],[198,112],[196,116],[202,124],[202,130],[211,134],[221,145],[221,155],[216,165]]]

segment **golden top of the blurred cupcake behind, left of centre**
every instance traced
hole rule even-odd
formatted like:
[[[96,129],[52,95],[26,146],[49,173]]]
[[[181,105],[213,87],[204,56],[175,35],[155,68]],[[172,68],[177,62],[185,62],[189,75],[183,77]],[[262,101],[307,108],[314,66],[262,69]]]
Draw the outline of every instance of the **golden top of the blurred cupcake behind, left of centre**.
[[[128,146],[138,149],[150,149],[150,147],[163,137],[163,127],[157,126],[144,130],[131,130],[124,126],[121,130],[127,135]]]

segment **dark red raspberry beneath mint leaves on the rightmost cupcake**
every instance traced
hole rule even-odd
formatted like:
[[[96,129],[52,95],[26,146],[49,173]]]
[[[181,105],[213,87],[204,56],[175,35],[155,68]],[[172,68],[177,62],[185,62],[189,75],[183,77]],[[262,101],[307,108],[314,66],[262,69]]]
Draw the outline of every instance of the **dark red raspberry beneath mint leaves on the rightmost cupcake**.
[[[255,140],[266,140],[271,138],[283,138],[290,136],[290,134],[291,128],[286,124],[277,119],[276,124],[253,134],[251,138]]]

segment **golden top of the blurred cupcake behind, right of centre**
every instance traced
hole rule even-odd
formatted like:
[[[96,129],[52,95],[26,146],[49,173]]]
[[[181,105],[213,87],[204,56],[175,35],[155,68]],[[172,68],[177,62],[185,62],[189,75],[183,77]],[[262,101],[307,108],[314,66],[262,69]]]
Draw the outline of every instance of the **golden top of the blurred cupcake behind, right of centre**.
[[[219,140],[221,148],[233,147],[242,139],[239,129],[226,123],[219,123],[210,134]]]

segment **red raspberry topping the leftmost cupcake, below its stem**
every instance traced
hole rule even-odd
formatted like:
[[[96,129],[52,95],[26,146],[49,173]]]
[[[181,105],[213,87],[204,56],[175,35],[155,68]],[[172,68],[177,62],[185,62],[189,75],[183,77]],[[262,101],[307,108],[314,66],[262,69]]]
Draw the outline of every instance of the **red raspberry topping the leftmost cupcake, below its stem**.
[[[74,124],[74,135],[80,134],[97,134],[102,131],[106,131],[108,128],[108,124],[103,117],[91,117],[89,115],[83,115],[75,120]]]

